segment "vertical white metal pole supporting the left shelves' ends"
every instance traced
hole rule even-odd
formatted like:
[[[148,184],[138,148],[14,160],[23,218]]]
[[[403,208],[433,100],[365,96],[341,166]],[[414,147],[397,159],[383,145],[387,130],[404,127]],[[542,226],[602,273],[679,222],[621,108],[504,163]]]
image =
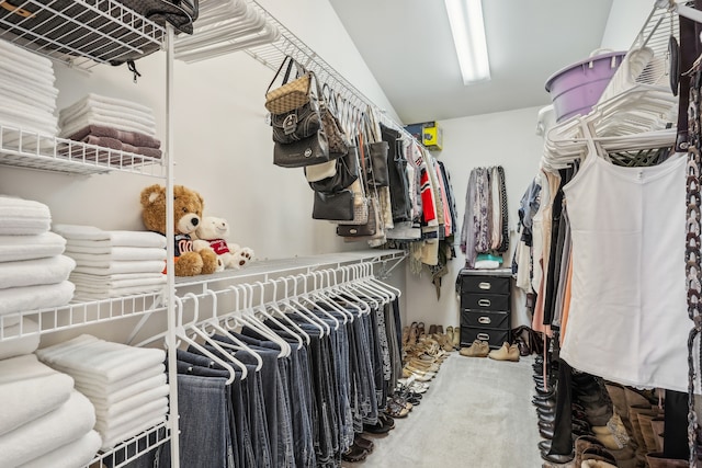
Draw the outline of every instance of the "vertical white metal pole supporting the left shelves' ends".
[[[176,256],[173,239],[173,59],[174,59],[174,34],[173,26],[166,24],[166,239],[168,240],[166,251],[166,300],[168,301],[168,333],[166,334],[166,346],[168,350],[168,383],[169,395],[169,425],[171,445],[171,467],[180,467],[180,436],[178,430],[178,364],[176,359],[177,338],[176,338]]]

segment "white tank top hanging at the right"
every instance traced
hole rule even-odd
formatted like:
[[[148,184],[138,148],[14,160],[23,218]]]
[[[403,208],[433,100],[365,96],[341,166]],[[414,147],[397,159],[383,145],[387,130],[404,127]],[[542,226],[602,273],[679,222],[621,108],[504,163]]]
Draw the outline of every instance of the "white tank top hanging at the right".
[[[626,168],[592,147],[563,190],[573,283],[561,356],[616,383],[687,392],[686,157]]]

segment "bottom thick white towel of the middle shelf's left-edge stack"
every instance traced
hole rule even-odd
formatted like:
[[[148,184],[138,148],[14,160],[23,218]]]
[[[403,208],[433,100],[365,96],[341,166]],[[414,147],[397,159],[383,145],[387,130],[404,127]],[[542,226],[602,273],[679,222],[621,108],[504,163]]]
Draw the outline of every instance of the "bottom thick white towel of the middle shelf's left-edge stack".
[[[0,289],[0,316],[65,306],[73,297],[73,289],[75,286],[69,281]]]

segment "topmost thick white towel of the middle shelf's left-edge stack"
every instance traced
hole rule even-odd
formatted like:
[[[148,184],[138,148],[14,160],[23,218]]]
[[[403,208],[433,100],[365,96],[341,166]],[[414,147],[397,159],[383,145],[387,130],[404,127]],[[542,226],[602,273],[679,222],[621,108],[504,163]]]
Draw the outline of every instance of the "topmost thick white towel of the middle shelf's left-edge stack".
[[[0,236],[39,235],[48,231],[48,206],[32,199],[0,195]]]

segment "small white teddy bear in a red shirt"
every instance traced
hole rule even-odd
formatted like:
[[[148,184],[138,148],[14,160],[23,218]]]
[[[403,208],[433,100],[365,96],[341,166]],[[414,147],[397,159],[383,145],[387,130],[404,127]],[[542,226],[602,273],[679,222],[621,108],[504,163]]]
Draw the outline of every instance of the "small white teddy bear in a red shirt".
[[[227,269],[239,270],[253,259],[253,250],[227,242],[229,224],[224,218],[204,216],[193,236],[195,249],[211,248]]]

